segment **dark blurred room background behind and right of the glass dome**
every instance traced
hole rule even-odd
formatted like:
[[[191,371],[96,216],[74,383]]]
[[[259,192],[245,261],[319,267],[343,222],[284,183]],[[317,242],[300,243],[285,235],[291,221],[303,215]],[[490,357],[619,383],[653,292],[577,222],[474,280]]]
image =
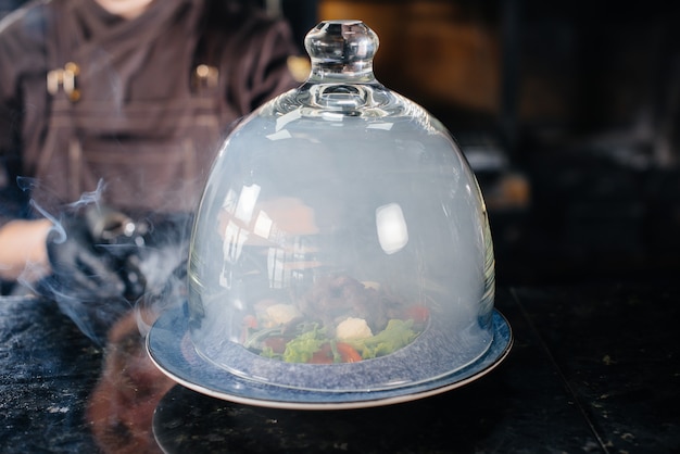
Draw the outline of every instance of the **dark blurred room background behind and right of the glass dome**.
[[[680,276],[680,3],[259,2],[302,63],[322,20],[378,34],[378,80],[441,119],[479,179],[499,283]]]

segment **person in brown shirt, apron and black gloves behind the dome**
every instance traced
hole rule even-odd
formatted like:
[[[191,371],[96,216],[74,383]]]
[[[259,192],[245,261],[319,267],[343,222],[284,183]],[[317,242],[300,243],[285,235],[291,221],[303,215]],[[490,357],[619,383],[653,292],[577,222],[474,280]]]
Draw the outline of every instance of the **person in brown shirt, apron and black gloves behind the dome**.
[[[4,17],[4,291],[47,294],[97,337],[114,302],[162,288],[218,144],[295,86],[297,53],[289,24],[247,1],[34,0]],[[144,262],[159,244],[173,260]]]

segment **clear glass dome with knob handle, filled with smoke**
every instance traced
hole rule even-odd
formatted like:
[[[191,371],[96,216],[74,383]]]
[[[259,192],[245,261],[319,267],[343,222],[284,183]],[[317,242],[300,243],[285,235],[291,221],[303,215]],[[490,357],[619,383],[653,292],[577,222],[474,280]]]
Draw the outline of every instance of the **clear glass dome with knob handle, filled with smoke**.
[[[361,21],[305,38],[307,80],[223,143],[191,237],[197,352],[252,382],[366,392],[443,377],[493,340],[479,187],[446,128],[373,73]]]

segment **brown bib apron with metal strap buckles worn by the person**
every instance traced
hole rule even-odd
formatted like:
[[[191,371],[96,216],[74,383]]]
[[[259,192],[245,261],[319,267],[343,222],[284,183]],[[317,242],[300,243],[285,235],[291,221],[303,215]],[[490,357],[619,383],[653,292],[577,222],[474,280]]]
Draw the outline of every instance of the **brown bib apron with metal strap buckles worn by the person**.
[[[201,61],[207,55],[196,55],[196,21],[178,21],[181,8],[159,7],[146,31],[143,24],[121,23],[97,39],[74,42],[78,24],[70,4],[77,1],[56,3],[50,114],[35,160],[34,200],[48,211],[92,199],[129,212],[193,211],[218,144],[224,97],[218,70]],[[171,27],[184,36],[179,61],[146,67],[147,43]],[[128,97],[125,77],[138,68],[179,83],[169,85],[167,96]]]

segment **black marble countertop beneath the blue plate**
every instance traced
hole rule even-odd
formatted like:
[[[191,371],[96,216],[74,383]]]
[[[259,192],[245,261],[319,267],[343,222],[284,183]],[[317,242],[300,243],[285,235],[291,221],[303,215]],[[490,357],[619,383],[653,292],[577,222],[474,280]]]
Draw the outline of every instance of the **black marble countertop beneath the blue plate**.
[[[680,452],[680,287],[500,288],[515,342],[479,380],[351,411],[234,404],[175,386],[134,314],[99,348],[56,306],[0,300],[3,453]],[[154,416],[155,415],[155,416]]]

